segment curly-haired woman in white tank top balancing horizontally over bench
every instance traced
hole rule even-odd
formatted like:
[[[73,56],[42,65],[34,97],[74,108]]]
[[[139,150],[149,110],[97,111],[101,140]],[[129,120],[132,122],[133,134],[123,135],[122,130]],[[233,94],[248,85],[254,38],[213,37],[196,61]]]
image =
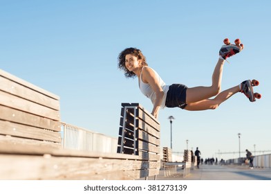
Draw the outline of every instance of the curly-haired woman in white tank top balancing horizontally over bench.
[[[209,87],[188,88],[182,84],[166,85],[158,73],[148,67],[146,58],[137,48],[126,48],[118,56],[118,68],[124,70],[127,78],[138,77],[142,94],[151,99],[151,114],[158,118],[160,108],[180,107],[190,111],[216,109],[218,105],[247,85],[247,81],[221,92],[221,78],[225,60],[243,49],[243,44],[229,44],[221,47],[219,58]],[[216,96],[217,95],[217,96]],[[209,99],[216,96],[214,99]]]

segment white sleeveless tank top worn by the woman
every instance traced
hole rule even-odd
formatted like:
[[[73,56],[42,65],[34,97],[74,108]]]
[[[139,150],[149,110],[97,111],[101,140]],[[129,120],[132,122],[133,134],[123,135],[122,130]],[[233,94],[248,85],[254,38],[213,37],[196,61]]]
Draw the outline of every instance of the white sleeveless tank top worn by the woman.
[[[144,67],[147,67],[147,66],[144,66]],[[143,70],[143,68],[142,68],[142,70]],[[151,69],[151,67],[147,67],[147,68]],[[158,75],[158,73],[156,71],[153,70],[153,72],[156,74],[156,78],[158,78],[159,85],[160,85],[160,87],[162,87],[162,91],[164,91],[164,96],[162,98],[162,103],[160,105],[160,108],[163,109],[163,108],[165,108],[165,103],[166,103],[166,98],[167,98],[167,91],[169,91],[169,86],[165,84],[165,82],[162,80],[162,78],[160,78],[160,76]],[[140,79],[139,80],[140,80],[139,81],[140,91],[142,92],[142,94],[144,94],[144,96],[147,96],[147,98],[150,98],[151,103],[153,103],[153,105],[154,105],[154,101],[156,100],[156,93],[151,89],[151,85],[145,84],[142,81],[142,71],[140,73]]]

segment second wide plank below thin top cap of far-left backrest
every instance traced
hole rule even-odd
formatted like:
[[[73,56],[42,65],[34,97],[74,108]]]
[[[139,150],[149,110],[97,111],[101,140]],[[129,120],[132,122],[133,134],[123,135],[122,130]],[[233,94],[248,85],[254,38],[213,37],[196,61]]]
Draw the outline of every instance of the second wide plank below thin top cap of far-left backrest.
[[[44,116],[55,121],[60,121],[59,111],[57,110],[38,105],[24,98],[19,98],[17,96],[13,96],[12,94],[8,94],[4,91],[0,91],[0,96],[0,105],[19,109],[30,114]]]

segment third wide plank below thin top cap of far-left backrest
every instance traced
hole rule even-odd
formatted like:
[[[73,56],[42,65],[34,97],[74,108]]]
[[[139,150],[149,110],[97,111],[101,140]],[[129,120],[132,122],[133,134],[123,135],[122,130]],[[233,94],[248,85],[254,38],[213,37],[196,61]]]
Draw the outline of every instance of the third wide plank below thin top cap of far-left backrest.
[[[60,132],[60,122],[0,105],[0,119]]]

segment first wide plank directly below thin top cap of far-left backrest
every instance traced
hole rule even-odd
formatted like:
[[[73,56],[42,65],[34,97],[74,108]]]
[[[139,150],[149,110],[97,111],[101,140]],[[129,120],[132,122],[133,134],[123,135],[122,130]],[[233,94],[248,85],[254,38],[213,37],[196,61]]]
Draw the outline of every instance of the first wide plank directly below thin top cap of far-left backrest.
[[[12,80],[2,76],[0,76],[0,82],[0,90],[2,91],[6,91],[9,94],[25,98],[26,100],[30,100],[37,104],[59,110],[59,100],[56,100],[55,98],[41,94],[35,90],[30,89],[29,87],[20,85],[17,82],[13,82]]]

